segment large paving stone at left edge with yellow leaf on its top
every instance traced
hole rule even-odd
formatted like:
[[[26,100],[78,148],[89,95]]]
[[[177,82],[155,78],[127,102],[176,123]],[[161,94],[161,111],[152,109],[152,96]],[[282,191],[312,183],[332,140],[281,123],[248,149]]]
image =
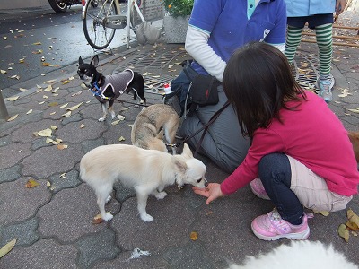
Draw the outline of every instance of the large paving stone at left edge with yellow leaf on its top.
[[[45,180],[38,180],[39,186],[28,188],[25,185],[29,179],[31,178],[19,178],[16,181],[1,184],[1,225],[29,219],[41,205],[50,199],[51,194]]]

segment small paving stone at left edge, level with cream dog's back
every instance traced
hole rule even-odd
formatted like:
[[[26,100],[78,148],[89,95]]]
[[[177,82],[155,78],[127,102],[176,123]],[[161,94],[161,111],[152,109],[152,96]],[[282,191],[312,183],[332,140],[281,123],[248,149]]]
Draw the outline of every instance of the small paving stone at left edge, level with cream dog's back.
[[[31,154],[30,143],[9,143],[1,147],[0,169],[10,168]]]

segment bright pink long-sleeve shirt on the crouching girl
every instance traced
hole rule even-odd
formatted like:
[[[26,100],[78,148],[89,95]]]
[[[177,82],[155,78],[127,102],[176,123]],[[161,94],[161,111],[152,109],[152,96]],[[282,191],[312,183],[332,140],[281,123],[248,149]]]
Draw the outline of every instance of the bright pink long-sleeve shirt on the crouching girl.
[[[283,123],[273,119],[270,126],[255,131],[246,158],[221,184],[224,195],[258,178],[260,159],[274,152],[302,162],[326,180],[330,191],[346,196],[357,194],[359,172],[345,127],[324,100],[310,91],[306,94],[308,100],[296,110],[280,110]]]

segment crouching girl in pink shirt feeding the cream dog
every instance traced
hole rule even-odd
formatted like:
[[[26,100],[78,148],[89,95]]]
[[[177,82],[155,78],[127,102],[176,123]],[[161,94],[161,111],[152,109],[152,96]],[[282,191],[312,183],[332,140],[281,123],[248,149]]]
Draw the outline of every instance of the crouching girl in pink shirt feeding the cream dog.
[[[357,194],[359,173],[346,129],[324,100],[295,82],[285,55],[266,43],[233,54],[223,89],[252,143],[232,175],[205,189],[193,187],[195,193],[209,204],[250,184],[276,205],[252,221],[259,239],[307,239],[303,206],[342,210]]]

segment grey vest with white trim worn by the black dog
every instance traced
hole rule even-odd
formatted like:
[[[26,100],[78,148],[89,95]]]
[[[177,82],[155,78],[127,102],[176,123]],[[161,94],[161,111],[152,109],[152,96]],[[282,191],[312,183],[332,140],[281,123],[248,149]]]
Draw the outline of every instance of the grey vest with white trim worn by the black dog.
[[[134,79],[134,72],[131,69],[125,69],[118,74],[102,76],[102,79],[104,80],[102,86],[99,86],[98,82],[93,83],[91,89],[93,96],[98,100],[117,99],[121,94],[131,91],[131,89],[128,89],[128,85]],[[115,94],[113,98],[103,94],[109,87],[112,87],[112,92]]]

